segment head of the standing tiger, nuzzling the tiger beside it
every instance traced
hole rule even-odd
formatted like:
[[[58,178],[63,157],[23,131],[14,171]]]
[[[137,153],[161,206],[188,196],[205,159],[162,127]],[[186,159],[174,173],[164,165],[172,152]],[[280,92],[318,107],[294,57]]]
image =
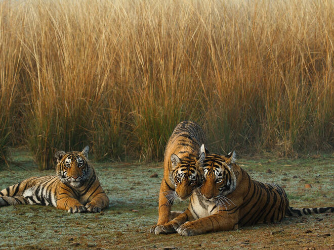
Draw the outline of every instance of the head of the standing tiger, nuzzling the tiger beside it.
[[[205,158],[204,144],[200,149],[199,157],[189,155],[181,159],[172,154],[172,168],[170,180],[175,187],[175,194],[180,199],[188,198],[192,191],[202,184],[202,165]]]

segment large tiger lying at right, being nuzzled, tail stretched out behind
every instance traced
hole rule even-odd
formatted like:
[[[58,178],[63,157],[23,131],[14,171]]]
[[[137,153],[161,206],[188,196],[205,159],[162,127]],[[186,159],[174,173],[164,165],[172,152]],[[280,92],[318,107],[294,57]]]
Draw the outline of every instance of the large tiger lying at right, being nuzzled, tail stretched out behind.
[[[155,233],[192,236],[281,221],[284,217],[334,212],[334,207],[290,207],[281,186],[252,180],[235,162],[235,152],[206,155],[203,184],[192,193],[188,209],[156,227]]]

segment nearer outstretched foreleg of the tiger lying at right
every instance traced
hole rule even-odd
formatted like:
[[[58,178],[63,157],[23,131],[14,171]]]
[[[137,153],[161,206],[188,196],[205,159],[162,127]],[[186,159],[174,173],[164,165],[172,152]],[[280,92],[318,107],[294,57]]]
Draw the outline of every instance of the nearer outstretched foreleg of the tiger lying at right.
[[[238,214],[227,214],[226,211],[219,211],[216,214],[199,218],[195,221],[188,221],[182,224],[177,232],[182,236],[193,236],[207,232],[229,231],[238,228]]]

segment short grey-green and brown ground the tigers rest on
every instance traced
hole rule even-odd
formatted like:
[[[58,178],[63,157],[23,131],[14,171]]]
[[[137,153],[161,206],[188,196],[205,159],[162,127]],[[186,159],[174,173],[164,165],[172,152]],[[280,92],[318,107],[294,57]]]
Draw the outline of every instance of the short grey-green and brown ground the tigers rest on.
[[[239,165],[256,180],[282,185],[290,206],[328,207],[334,206],[333,159],[333,155],[292,160],[252,157],[239,159]],[[29,176],[54,174],[53,170],[38,171],[25,151],[15,151],[13,160],[22,165],[0,171],[0,189]],[[53,207],[1,207],[0,249],[334,249],[334,214],[329,213],[193,237],[150,234],[157,221],[162,164],[92,165],[109,196],[107,210],[68,214]],[[157,177],[150,177],[153,174]],[[180,202],[173,210],[186,207],[187,202]]]

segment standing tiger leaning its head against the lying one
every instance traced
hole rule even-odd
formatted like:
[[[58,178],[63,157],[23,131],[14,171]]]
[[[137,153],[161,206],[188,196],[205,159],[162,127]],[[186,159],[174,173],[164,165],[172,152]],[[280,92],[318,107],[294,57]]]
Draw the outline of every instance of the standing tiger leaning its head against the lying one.
[[[204,132],[197,123],[183,121],[175,127],[164,152],[159,217],[157,225],[151,228],[151,233],[157,234],[156,226],[163,225],[178,215],[177,212],[171,213],[176,197],[184,200],[201,185],[204,143]]]

